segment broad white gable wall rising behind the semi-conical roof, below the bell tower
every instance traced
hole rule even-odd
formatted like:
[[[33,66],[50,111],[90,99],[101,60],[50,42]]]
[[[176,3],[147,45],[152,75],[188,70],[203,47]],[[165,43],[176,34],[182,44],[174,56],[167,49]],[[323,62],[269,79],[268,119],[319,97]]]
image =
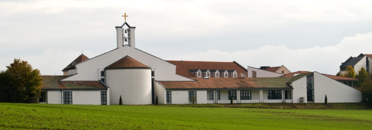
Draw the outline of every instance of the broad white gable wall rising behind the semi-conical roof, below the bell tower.
[[[76,68],[78,74],[69,78],[65,78],[63,79],[63,81],[99,80],[99,68],[104,69],[108,65],[111,65],[112,63],[118,61],[126,55],[132,57],[133,59],[139,61],[144,65],[151,67],[152,69],[155,69],[155,80],[192,81],[192,79],[176,75],[176,65],[168,63],[162,59],[159,59],[153,55],[142,52],[128,45],[119,47],[115,50],[77,64]]]

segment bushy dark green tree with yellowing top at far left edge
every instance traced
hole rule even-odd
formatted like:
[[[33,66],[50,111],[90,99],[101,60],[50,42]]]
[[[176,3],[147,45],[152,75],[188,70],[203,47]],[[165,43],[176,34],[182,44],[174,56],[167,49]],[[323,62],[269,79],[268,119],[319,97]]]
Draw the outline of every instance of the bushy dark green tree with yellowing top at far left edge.
[[[42,78],[38,69],[20,59],[1,72],[1,91],[5,93],[5,101],[10,103],[38,103],[41,97]],[[5,81],[4,81],[5,80]]]

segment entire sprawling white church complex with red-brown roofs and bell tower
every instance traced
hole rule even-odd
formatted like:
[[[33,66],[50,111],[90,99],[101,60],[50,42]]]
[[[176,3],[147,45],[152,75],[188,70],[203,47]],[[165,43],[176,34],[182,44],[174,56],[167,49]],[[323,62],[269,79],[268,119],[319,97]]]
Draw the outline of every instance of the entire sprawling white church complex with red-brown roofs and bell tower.
[[[135,47],[135,29],[116,26],[117,48],[93,58],[81,54],[62,71],[43,78],[47,104],[228,104],[360,102],[361,92],[318,72],[252,77],[237,62],[165,61]],[[259,75],[258,73],[257,75]]]

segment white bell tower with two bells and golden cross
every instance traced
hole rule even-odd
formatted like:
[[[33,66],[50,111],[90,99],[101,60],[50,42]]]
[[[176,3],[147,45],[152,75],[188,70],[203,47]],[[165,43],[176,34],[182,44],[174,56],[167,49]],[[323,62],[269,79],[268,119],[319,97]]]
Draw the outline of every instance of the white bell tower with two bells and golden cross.
[[[125,22],[122,26],[115,26],[116,28],[116,44],[117,48],[123,47],[124,45],[129,45],[130,47],[136,47],[136,39],[135,39],[135,26],[129,26],[126,23],[126,13],[123,15]]]

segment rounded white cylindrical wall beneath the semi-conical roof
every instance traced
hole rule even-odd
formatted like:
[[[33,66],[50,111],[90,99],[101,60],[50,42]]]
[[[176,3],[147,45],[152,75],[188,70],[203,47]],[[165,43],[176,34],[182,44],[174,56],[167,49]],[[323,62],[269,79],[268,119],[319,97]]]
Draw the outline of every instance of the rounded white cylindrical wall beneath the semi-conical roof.
[[[106,84],[110,87],[110,104],[152,104],[151,69],[106,70]]]

